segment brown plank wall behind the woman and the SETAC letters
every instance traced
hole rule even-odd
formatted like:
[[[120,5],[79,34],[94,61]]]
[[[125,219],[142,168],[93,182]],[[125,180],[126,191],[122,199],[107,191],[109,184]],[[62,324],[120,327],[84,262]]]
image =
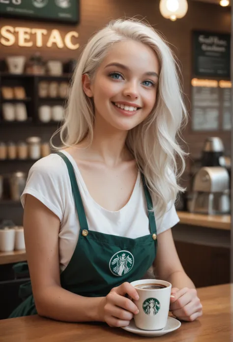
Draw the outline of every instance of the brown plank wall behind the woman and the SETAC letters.
[[[218,32],[231,31],[231,9],[219,5],[188,1],[189,9],[186,16],[172,22],[164,19],[159,12],[159,0],[81,0],[81,20],[76,26],[66,26],[56,23],[43,23],[36,21],[1,19],[0,26],[24,26],[45,28],[51,31],[58,28],[62,36],[68,31],[78,31],[81,48],[72,51],[67,48],[20,48],[16,46],[5,47],[0,45],[0,59],[7,55],[24,54],[29,57],[35,51],[40,51],[45,59],[59,58],[62,61],[77,58],[93,32],[106,25],[109,20],[119,17],[146,18],[157,30],[161,31],[170,42],[177,58],[180,60],[186,105],[190,109],[190,81],[192,78],[192,30],[206,30]],[[193,157],[198,157],[206,136],[220,136],[225,144],[227,154],[230,154],[230,132],[192,132],[190,123],[184,131],[184,138]]]

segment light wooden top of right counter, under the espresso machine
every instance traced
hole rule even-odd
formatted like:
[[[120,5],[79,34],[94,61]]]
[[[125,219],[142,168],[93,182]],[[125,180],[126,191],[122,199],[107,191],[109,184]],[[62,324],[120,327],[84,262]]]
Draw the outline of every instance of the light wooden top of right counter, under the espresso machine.
[[[231,215],[203,215],[188,212],[177,212],[181,224],[231,230]]]

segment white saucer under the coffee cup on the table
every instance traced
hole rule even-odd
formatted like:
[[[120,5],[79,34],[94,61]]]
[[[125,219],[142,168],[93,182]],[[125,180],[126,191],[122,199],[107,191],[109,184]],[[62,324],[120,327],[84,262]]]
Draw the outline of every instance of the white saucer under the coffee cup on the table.
[[[181,323],[173,317],[168,317],[166,327],[162,330],[142,330],[136,327],[134,320],[132,319],[127,327],[122,327],[122,329],[129,331],[133,334],[138,334],[142,336],[162,336],[167,333],[171,333],[180,327]]]

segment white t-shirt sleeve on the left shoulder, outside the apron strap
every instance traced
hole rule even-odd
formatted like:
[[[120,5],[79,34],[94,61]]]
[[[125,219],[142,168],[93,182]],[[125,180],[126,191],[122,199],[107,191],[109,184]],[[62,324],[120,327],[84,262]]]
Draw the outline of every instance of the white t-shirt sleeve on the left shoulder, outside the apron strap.
[[[60,159],[60,160],[59,160]],[[58,218],[64,215],[64,165],[58,155],[44,157],[30,168],[25,190],[21,196],[24,207],[30,194],[49,208]]]

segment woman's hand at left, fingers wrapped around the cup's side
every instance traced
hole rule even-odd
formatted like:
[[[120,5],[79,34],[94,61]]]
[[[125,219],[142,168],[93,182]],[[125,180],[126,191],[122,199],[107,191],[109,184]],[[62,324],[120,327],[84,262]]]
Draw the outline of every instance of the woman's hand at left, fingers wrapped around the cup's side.
[[[100,317],[110,327],[126,327],[134,314],[137,314],[137,306],[128,298],[138,300],[138,292],[129,283],[124,282],[118,287],[114,287],[100,303]]]

